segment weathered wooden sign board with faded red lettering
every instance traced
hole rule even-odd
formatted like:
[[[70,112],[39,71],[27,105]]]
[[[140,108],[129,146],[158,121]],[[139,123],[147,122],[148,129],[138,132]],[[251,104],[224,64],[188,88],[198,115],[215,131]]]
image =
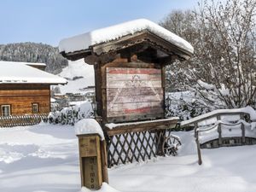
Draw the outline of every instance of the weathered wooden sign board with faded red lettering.
[[[163,117],[161,70],[107,67],[107,118],[116,121]]]

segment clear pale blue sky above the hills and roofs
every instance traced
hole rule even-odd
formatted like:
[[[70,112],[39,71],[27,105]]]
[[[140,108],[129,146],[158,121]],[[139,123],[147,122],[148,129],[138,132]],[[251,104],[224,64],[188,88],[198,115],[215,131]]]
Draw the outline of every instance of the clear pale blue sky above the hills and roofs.
[[[159,22],[196,6],[197,0],[0,0],[0,44],[57,46],[61,38],[138,18]]]

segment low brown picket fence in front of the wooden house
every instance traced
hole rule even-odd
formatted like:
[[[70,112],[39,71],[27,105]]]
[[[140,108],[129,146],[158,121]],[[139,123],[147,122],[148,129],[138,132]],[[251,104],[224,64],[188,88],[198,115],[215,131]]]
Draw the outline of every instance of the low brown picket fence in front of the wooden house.
[[[0,127],[37,125],[48,120],[48,113],[0,117]]]

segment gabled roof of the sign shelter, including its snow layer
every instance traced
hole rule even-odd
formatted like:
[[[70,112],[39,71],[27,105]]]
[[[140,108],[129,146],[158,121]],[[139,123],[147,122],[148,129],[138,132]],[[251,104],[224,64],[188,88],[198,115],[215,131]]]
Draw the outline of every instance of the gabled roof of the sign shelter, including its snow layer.
[[[162,55],[178,55],[185,60],[194,52],[192,45],[183,38],[145,19],[131,20],[64,38],[59,44],[59,50],[67,59],[78,60],[88,55],[102,55],[144,42],[156,46]]]

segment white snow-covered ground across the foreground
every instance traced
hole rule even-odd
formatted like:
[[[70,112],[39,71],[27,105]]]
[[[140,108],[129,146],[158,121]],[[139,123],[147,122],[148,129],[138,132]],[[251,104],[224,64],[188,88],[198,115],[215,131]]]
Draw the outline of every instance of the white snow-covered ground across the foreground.
[[[110,186],[124,192],[256,191],[256,145],[203,149],[203,164],[198,166],[193,133],[176,134],[183,141],[177,157],[113,167]],[[0,129],[1,192],[79,190],[78,140],[73,127],[41,124]]]

